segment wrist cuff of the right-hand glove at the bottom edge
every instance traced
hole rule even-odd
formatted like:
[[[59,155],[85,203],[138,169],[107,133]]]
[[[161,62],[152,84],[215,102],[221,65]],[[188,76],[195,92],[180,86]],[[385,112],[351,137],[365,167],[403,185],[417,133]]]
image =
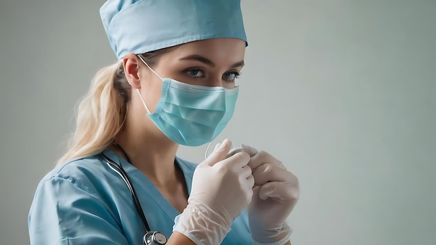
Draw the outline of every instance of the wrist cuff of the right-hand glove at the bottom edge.
[[[293,230],[284,223],[281,228],[271,230],[251,230],[253,245],[283,245],[290,239]]]

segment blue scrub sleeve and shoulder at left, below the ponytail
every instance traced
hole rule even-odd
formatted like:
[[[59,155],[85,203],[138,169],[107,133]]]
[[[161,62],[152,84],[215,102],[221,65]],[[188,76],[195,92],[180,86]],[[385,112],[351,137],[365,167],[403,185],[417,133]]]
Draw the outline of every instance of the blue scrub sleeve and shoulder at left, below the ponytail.
[[[28,216],[32,244],[127,244],[105,168],[94,155],[56,166],[40,180]]]

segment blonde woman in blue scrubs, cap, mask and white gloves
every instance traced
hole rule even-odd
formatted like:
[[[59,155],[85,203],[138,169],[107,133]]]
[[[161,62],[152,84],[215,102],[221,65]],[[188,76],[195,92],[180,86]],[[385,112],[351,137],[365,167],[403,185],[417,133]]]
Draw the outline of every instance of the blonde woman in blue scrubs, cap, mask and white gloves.
[[[198,166],[176,157],[233,115],[240,2],[113,0],[100,15],[118,61],[96,74],[68,152],[38,185],[31,244],[290,244],[299,187],[280,161],[229,155],[229,140]]]

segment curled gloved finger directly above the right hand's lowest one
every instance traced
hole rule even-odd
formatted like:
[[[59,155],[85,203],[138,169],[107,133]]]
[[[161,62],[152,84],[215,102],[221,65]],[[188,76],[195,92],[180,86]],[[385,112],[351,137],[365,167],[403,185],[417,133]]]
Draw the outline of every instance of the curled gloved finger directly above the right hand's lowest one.
[[[281,168],[274,164],[263,164],[258,166],[253,171],[254,180],[256,185],[262,185],[266,182],[292,182],[295,177],[293,173],[290,173],[284,168]]]

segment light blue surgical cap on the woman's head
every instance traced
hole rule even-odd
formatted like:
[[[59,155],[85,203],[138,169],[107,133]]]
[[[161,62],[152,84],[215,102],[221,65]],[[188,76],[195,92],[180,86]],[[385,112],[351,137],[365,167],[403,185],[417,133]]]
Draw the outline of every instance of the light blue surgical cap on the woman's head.
[[[100,16],[118,59],[210,38],[248,45],[240,0],[109,0]]]

